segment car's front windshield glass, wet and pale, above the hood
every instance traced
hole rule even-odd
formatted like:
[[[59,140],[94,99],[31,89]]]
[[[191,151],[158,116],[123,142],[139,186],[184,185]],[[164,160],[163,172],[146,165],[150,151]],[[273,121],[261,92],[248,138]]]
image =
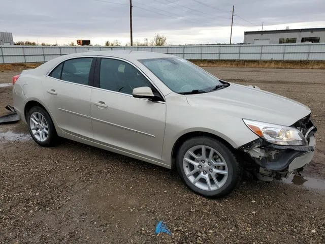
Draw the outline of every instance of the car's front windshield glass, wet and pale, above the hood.
[[[150,58],[139,62],[175,93],[205,93],[224,86],[224,82],[183,58]]]

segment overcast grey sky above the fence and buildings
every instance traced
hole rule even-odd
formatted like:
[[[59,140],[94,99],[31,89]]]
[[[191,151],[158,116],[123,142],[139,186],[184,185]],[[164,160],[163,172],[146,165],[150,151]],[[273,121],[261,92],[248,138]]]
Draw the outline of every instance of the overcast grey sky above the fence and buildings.
[[[155,33],[168,44],[233,43],[244,31],[325,27],[325,0],[133,0],[133,39]],[[14,41],[66,44],[90,39],[129,42],[129,0],[1,0],[0,32]]]

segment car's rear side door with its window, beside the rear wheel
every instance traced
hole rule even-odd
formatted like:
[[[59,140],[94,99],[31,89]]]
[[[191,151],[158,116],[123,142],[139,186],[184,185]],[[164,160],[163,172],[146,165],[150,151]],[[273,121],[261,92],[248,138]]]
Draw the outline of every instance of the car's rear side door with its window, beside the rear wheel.
[[[45,104],[59,128],[66,133],[92,140],[89,85],[93,57],[65,60],[45,77]],[[58,132],[60,133],[60,132]]]

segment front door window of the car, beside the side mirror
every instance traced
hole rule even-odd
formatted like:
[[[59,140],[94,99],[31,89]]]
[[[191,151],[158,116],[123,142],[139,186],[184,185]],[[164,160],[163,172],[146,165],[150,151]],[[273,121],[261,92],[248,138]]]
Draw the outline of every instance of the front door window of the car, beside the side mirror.
[[[153,89],[147,78],[134,66],[117,59],[101,59],[100,88],[132,94],[134,88],[142,86]]]

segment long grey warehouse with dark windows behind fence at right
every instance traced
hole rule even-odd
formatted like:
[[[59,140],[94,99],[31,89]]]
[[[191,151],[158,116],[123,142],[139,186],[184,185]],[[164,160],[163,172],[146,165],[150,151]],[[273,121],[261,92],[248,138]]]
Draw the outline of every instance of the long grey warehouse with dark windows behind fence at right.
[[[325,28],[280,29],[277,31],[245,32],[246,44],[325,43]]]

